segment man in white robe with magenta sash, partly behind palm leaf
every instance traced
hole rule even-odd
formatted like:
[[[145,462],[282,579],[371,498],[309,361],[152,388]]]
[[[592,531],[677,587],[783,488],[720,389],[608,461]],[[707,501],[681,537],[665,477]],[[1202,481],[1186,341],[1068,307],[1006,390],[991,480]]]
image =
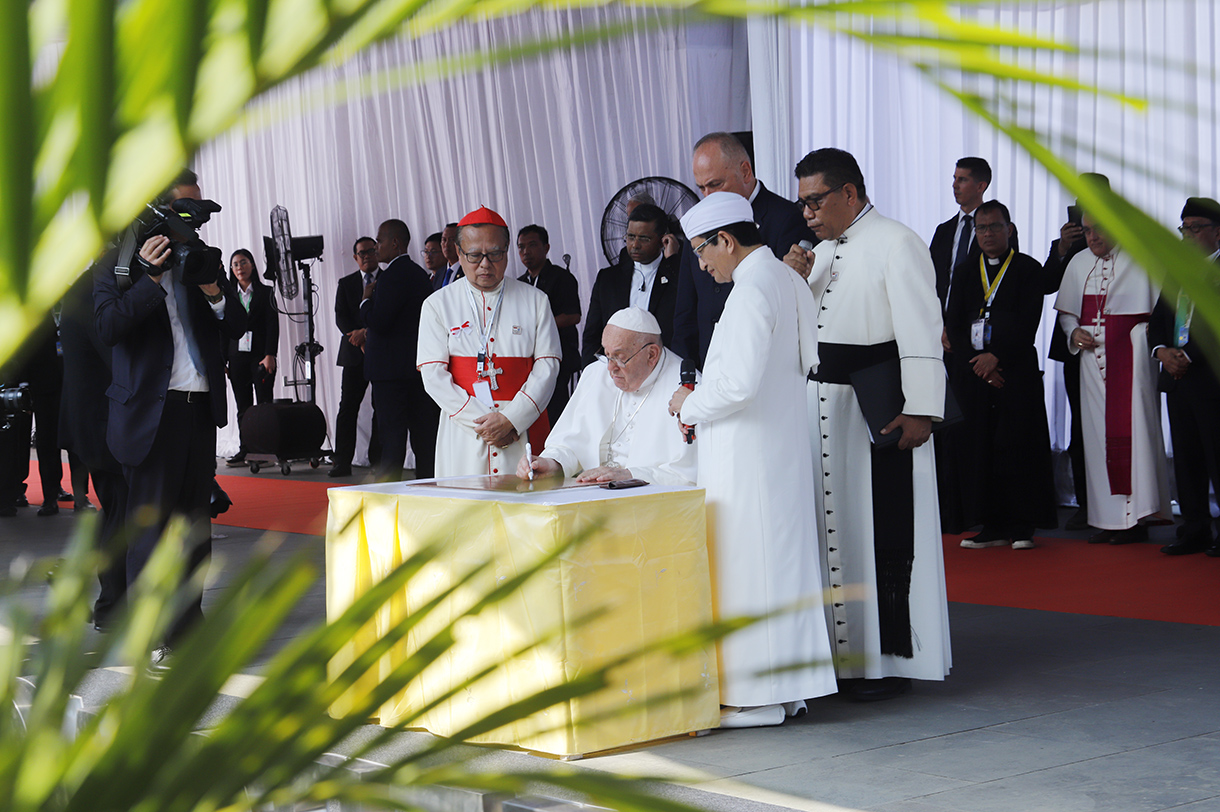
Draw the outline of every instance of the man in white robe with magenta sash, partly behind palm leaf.
[[[1064,271],[1055,297],[1068,350],[1081,356],[1089,544],[1148,539],[1149,519],[1172,521],[1148,318],[1157,290],[1131,257],[1083,218],[1088,251]],[[1143,522],[1141,521],[1143,519]]]

